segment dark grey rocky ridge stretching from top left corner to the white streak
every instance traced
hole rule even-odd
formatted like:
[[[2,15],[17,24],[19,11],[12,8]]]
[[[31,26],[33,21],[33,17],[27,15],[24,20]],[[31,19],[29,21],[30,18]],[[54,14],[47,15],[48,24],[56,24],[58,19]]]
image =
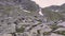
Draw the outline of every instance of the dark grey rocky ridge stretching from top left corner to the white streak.
[[[21,4],[23,10],[26,10],[26,11],[30,11],[30,12],[38,12],[39,11],[39,5],[36,4],[31,0],[1,0],[1,1],[6,1],[6,2],[13,2],[13,3],[16,3],[16,4]]]

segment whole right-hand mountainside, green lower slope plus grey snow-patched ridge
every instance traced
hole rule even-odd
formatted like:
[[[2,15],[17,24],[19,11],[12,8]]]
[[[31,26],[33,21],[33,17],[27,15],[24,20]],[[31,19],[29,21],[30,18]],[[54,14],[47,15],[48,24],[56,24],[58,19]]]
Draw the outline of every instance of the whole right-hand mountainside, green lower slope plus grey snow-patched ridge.
[[[58,21],[65,20],[65,4],[62,5],[51,5],[41,10],[42,14],[48,18],[48,20]]]

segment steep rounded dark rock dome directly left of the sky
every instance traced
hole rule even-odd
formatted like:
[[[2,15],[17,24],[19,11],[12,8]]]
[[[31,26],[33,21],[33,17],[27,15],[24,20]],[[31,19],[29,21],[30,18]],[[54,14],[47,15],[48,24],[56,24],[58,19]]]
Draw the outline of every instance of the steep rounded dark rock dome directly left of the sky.
[[[23,8],[26,11],[30,11],[30,12],[39,11],[39,5],[36,4],[34,1],[21,0],[18,2],[22,4]]]

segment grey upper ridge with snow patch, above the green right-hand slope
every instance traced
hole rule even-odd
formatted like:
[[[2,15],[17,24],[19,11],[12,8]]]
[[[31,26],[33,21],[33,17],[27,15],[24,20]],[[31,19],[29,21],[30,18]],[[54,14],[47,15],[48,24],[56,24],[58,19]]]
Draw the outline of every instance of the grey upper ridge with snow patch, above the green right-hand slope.
[[[52,11],[52,12],[65,12],[65,3],[62,5],[51,5],[44,8],[48,8],[49,11]]]

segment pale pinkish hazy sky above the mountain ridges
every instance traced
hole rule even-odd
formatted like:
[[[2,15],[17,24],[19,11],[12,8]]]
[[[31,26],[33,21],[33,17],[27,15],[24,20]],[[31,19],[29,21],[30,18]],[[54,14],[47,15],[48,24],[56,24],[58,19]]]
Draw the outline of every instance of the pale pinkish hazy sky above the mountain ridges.
[[[50,5],[61,5],[65,3],[65,0],[32,0],[32,1],[35,1],[41,7],[46,7]]]

